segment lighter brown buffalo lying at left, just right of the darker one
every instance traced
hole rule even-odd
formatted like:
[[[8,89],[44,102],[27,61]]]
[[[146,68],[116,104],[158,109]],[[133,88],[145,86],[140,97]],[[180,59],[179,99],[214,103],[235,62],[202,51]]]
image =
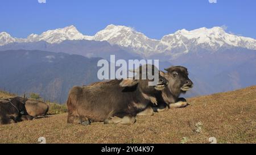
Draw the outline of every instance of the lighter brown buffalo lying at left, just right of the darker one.
[[[25,104],[26,110],[28,115],[37,117],[37,116],[44,116],[47,114],[49,110],[48,104],[40,101],[40,100],[27,100]]]

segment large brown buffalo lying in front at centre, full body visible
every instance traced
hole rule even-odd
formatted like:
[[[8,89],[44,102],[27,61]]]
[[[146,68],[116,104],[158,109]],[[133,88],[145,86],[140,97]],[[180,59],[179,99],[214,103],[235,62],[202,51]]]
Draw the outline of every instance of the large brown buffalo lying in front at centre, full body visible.
[[[75,86],[69,91],[67,122],[82,125],[90,122],[133,124],[135,116],[145,110],[150,101],[156,100],[154,94],[166,86],[166,79],[160,75],[157,85],[148,86],[149,81],[141,78],[113,79],[90,86]]]

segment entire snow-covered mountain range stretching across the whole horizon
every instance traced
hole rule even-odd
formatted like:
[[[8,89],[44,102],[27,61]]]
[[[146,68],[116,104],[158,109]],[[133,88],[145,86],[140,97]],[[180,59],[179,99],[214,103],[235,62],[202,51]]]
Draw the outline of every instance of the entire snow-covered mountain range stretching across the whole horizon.
[[[83,35],[75,26],[48,30],[40,35],[32,33],[24,39],[12,37],[7,32],[0,33],[0,46],[10,43],[33,43],[41,40],[50,44],[61,43],[64,40],[108,41],[112,45],[119,45],[143,56],[165,53],[177,57],[193,51],[192,49],[195,48],[213,52],[229,47],[256,49],[255,39],[227,33],[222,27],[203,27],[192,31],[183,29],[165,35],[160,40],[150,39],[133,28],[113,24],[97,32],[94,36]]]

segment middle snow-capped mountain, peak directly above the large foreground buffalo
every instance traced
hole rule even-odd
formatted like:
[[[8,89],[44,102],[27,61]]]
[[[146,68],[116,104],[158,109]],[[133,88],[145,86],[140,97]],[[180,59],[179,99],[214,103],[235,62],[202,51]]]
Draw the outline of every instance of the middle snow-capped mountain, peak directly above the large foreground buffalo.
[[[108,41],[121,47],[133,49],[135,52],[148,53],[155,51],[159,40],[150,39],[143,33],[135,31],[133,28],[125,26],[115,26],[110,24],[93,36],[96,41]]]

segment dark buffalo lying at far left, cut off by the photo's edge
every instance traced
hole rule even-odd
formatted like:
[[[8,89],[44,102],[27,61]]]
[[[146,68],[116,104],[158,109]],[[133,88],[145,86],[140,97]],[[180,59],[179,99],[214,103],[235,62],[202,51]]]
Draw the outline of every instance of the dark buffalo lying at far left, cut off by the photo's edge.
[[[15,97],[0,100],[0,124],[10,124],[22,121],[23,115],[28,115],[25,107],[27,98]]]

